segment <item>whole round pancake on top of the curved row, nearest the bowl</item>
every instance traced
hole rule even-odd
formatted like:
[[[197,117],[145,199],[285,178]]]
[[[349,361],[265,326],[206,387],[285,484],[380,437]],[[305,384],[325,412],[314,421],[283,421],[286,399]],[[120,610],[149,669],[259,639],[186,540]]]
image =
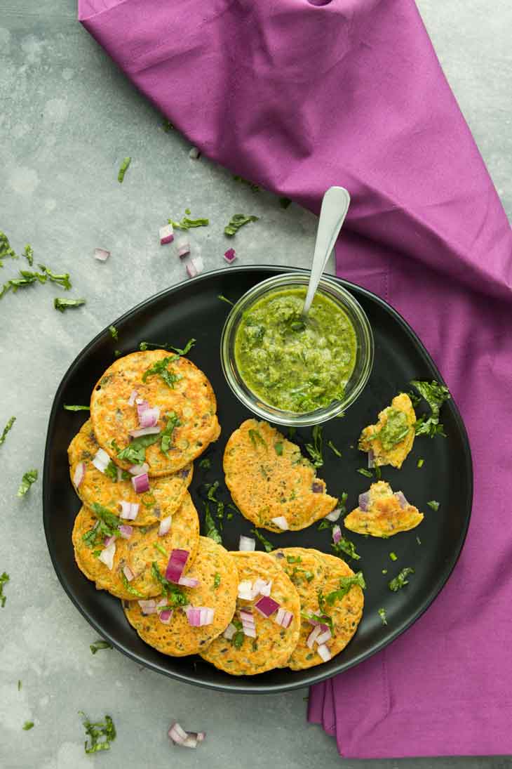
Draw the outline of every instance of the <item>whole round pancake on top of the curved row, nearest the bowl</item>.
[[[109,366],[91,396],[91,421],[121,468],[146,461],[150,475],[184,468],[220,435],[210,381],[165,350],[134,352]]]

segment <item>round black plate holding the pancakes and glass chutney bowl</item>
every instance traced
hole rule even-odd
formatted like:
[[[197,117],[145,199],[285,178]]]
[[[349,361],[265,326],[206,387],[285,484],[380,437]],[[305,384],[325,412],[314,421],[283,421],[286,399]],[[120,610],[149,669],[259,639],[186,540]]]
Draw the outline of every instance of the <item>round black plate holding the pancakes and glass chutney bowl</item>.
[[[148,299],[115,321],[119,341],[114,343],[106,329],[81,351],[64,376],[51,409],[45,451],[44,521],[51,560],[64,590],[97,632],[124,654],[155,671],[191,684],[244,692],[286,691],[322,681],[362,662],[397,638],[428,608],[454,568],[469,524],[473,491],[471,451],[461,416],[451,400],[442,409],[447,438],[418,438],[401,471],[382,468],[382,477],[392,488],[404,491],[405,496],[424,511],[424,521],[414,531],[390,540],[348,532],[361,555],[361,560],[352,566],[364,571],[368,584],[365,613],[355,637],[341,654],[302,672],[284,668],[253,677],[235,677],[216,670],[200,657],[160,654],[144,644],[127,623],[121,601],[97,591],[78,570],[74,564],[71,530],[80,503],[69,480],[66,450],[85,415],[64,411],[63,404],[88,403],[94,383],[114,360],[114,346],[128,353],[137,350],[141,340],[159,344],[169,341],[182,346],[190,337],[196,338],[197,345],[190,352],[190,359],[206,372],[213,384],[223,430],[220,440],[208,450],[207,456],[212,459],[210,471],[196,465],[191,486],[203,523],[201,484],[216,479],[223,483],[222,455],[226,439],[251,415],[231,393],[220,368],[220,331],[229,307],[218,295],[235,300],[269,275],[285,271],[286,268],[247,267],[210,272]],[[365,467],[366,460],[366,454],[357,450],[362,427],[375,421],[378,411],[395,394],[407,390],[412,378],[441,381],[441,375],[418,337],[395,310],[369,291],[340,282],[365,309],[375,335],[375,365],[365,391],[345,418],[324,425],[325,441],[331,439],[343,456],[339,459],[325,448],[325,464],[319,475],[325,478],[332,494],[348,491],[348,510],[351,510],[358,494],[366,491],[371,482],[357,472],[357,468]],[[297,433],[299,442],[308,436],[309,428]],[[424,458],[424,465],[418,469],[420,457]],[[227,492],[224,498],[229,499]],[[426,504],[433,498],[440,502],[437,512]],[[239,515],[226,522],[226,548],[236,550],[239,534],[249,534],[250,528],[249,521]],[[276,546],[330,550],[330,529],[318,531],[317,525],[286,534],[264,533]],[[390,551],[395,551],[397,561],[391,561]],[[405,588],[392,593],[388,581],[405,566],[415,568],[415,574]],[[388,573],[382,574],[385,568]],[[385,627],[378,615],[381,607],[388,617]]]

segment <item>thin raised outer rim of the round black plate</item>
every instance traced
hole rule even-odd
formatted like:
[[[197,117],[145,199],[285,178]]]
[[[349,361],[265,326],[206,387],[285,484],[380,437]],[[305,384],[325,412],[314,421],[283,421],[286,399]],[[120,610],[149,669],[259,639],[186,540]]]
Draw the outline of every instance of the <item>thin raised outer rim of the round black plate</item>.
[[[217,268],[215,270],[210,270],[207,272],[202,273],[201,275],[198,275],[196,278],[187,279],[180,281],[177,284],[174,284],[172,286],[169,286],[167,288],[162,289],[162,291],[158,291],[156,294],[151,295],[150,297],[144,299],[143,301],[139,302],[139,304],[135,305],[133,308],[130,308],[130,310],[127,310],[123,313],[123,315],[120,315],[118,318],[116,318],[110,325],[119,325],[127,318],[137,315],[137,313],[142,310],[143,308],[146,308],[148,305],[151,305],[154,301],[157,301],[159,298],[162,298],[164,295],[173,295],[180,291],[183,287],[187,286],[190,287],[190,285],[200,285],[203,281],[210,280],[211,278],[219,278],[222,276],[226,271],[229,269],[230,275],[233,275],[233,273],[236,272],[251,272],[251,271],[258,271],[258,272],[268,272],[269,274],[279,274],[280,272],[286,273],[286,272],[308,272],[306,268],[297,268],[297,267],[290,267],[286,265],[239,265],[236,267],[231,268]],[[439,371],[437,365],[435,364],[433,358],[431,358],[430,353],[428,352],[427,348],[424,346],[421,339],[418,337],[418,335],[415,333],[414,329],[411,328],[411,326],[408,324],[408,321],[405,320],[405,318],[400,315],[400,313],[392,307],[385,299],[382,299],[378,295],[374,294],[372,291],[368,291],[367,288],[364,288],[363,286],[360,286],[356,283],[352,283],[351,281],[347,281],[344,278],[339,278],[337,275],[329,275],[329,277],[332,277],[334,280],[339,281],[341,285],[344,288],[348,288],[349,290],[355,289],[356,297],[357,294],[365,295],[366,297],[370,298],[372,301],[375,301],[378,305],[380,305],[382,308],[385,309],[394,319],[395,321],[398,321],[398,323],[401,325],[402,329],[405,331],[405,333],[411,338],[411,340],[415,343],[418,350],[421,353],[421,357],[425,358],[428,365],[431,366],[431,368],[434,369],[434,372],[436,374],[436,378],[438,379],[441,384],[446,384],[444,382],[444,379],[441,376],[441,372]],[[428,610],[428,608],[431,606],[431,604],[434,602],[436,598],[441,594],[441,592],[444,590],[444,587],[448,583],[448,580],[451,577],[451,574],[453,574],[454,568],[457,565],[457,561],[459,560],[461,556],[461,552],[464,548],[464,543],[467,538],[467,531],[469,529],[469,525],[471,522],[471,514],[472,514],[472,508],[473,508],[473,498],[474,498],[474,472],[473,472],[473,460],[471,455],[471,444],[467,435],[467,430],[464,425],[464,421],[461,417],[461,412],[459,411],[457,407],[457,402],[454,400],[454,398],[451,398],[452,406],[454,408],[454,418],[457,423],[457,428],[459,429],[462,437],[463,442],[463,456],[461,457],[464,459],[464,463],[467,467],[468,472],[468,487],[467,487],[467,498],[464,501],[464,506],[467,509],[467,517],[464,523],[464,529],[461,531],[461,537],[459,539],[459,542],[457,544],[457,548],[454,550],[454,553],[451,555],[450,560],[447,562],[447,564],[444,566],[441,576],[438,578],[438,580],[433,584],[431,591],[428,594],[428,597],[421,603],[421,606],[416,609],[411,614],[411,618],[409,620],[401,625],[400,628],[398,628],[396,631],[394,631],[391,634],[391,637],[386,638],[380,643],[373,644],[372,648],[368,651],[365,651],[362,654],[358,654],[355,659],[353,659],[350,663],[343,663],[340,661],[339,665],[337,666],[337,669],[333,670],[332,668],[329,669],[329,671],[322,671],[322,665],[318,665],[316,667],[309,668],[310,671],[313,671],[311,674],[304,677],[305,671],[301,672],[301,680],[300,681],[289,681],[289,683],[281,683],[281,684],[257,684],[257,677],[256,676],[233,676],[233,683],[230,682],[213,682],[208,681],[205,679],[202,679],[201,677],[191,679],[187,674],[181,674],[179,671],[169,671],[165,669],[164,667],[160,667],[160,665],[147,661],[144,658],[140,657],[138,654],[134,653],[133,651],[130,651],[130,649],[127,649],[124,647],[124,644],[117,641],[115,638],[111,636],[111,634],[104,631],[104,628],[101,628],[101,625],[98,624],[94,619],[91,617],[91,614],[81,605],[81,602],[78,601],[78,599],[75,598],[73,591],[71,591],[70,586],[68,585],[68,580],[65,576],[65,574],[61,571],[60,564],[58,561],[58,554],[55,552],[55,549],[53,545],[51,544],[51,532],[50,532],[50,508],[51,508],[51,502],[50,502],[50,456],[51,456],[51,433],[54,432],[55,427],[55,420],[57,418],[57,414],[59,412],[59,405],[61,401],[61,392],[64,390],[66,384],[68,383],[68,379],[71,378],[71,375],[73,375],[75,368],[80,364],[82,358],[84,355],[88,354],[88,351],[91,350],[91,348],[94,347],[94,345],[97,343],[97,341],[103,337],[103,335],[108,332],[108,326],[101,329],[97,333],[97,335],[94,336],[94,338],[91,339],[91,341],[88,342],[87,345],[85,345],[84,348],[81,349],[81,351],[76,355],[73,361],[71,361],[71,364],[68,366],[68,369],[65,371],[63,377],[61,378],[60,384],[58,385],[57,390],[55,391],[55,396],[53,398],[53,402],[51,404],[51,411],[50,416],[48,418],[48,427],[46,432],[46,440],[45,440],[45,460],[44,460],[44,468],[43,468],[43,486],[42,486],[42,508],[43,508],[43,525],[45,529],[45,539],[46,539],[46,545],[48,547],[48,552],[50,554],[51,558],[51,564],[54,568],[55,574],[57,574],[58,581],[61,584],[61,587],[64,588],[64,592],[68,595],[68,598],[70,598],[71,602],[74,604],[76,608],[78,608],[78,611],[80,611],[81,615],[88,621],[88,623],[91,625],[92,628],[94,628],[95,631],[97,631],[98,634],[101,634],[102,638],[105,638],[107,641],[109,641],[114,648],[117,649],[117,651],[121,651],[122,654],[125,654],[127,657],[129,657],[134,662],[137,662],[137,664],[142,664],[144,667],[148,667],[150,670],[155,671],[157,673],[163,674],[167,677],[172,678],[175,681],[181,681],[183,683],[191,684],[193,686],[198,687],[204,687],[208,689],[213,689],[214,691],[225,691],[225,692],[233,692],[236,694],[279,694],[286,691],[293,691],[295,689],[301,689],[303,687],[309,687],[312,686],[312,684],[319,684],[322,681],[325,681],[328,678],[334,677],[335,675],[338,675],[342,672],[348,671],[350,668],[355,667],[358,664],[361,664],[363,661],[368,660],[370,657],[373,657],[375,654],[378,654],[379,651],[382,651],[385,647],[389,646],[389,644],[392,644],[393,641],[395,641],[401,634],[405,633],[405,631],[408,631],[409,628],[413,624],[415,624],[416,621],[424,614],[425,611]],[[335,659],[335,658],[334,658]],[[314,672],[316,671],[316,672]],[[290,674],[293,674],[294,671],[290,671]],[[251,685],[248,686],[243,685],[242,682],[246,681],[247,679],[251,680]],[[255,682],[253,684],[253,682]]]

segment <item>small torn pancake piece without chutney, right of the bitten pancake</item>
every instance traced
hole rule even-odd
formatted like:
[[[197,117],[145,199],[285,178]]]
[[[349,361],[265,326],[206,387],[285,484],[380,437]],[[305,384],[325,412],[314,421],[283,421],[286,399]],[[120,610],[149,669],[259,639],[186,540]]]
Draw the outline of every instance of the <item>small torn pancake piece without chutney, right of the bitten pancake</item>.
[[[359,495],[359,506],[345,518],[345,526],[358,534],[391,537],[408,531],[423,521],[423,513],[409,504],[401,491],[393,492],[385,481],[372,483],[369,491]]]

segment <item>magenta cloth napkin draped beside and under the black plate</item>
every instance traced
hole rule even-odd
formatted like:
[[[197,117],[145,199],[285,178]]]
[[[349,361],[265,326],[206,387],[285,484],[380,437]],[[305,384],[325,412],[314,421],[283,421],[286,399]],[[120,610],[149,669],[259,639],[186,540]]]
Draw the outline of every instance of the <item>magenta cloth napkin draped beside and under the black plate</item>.
[[[79,15],[213,160],[313,211],[348,188],[338,274],[405,316],[469,431],[474,511],[447,587],[313,687],[309,720],[346,757],[512,753],[512,233],[414,2],[79,0]]]

